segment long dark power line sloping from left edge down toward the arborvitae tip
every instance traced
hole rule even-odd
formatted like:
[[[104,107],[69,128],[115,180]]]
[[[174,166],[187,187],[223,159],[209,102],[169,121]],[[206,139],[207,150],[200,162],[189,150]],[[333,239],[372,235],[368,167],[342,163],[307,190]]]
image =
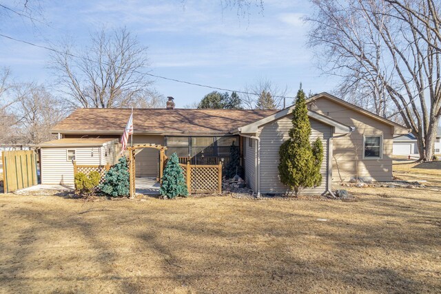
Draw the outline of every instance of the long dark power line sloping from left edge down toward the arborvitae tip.
[[[25,41],[25,40],[21,40],[21,39],[16,39],[16,38],[13,38],[12,36],[7,36],[6,34],[0,34],[0,36],[2,36],[3,38],[6,38],[6,39],[10,39],[12,41],[25,43],[25,44],[28,44],[28,45],[31,45],[31,46],[34,46],[34,47],[37,47],[37,48],[42,48],[42,49],[45,49],[45,50],[50,50],[52,52],[56,52],[56,53],[59,53],[59,54],[65,54],[65,55],[74,57],[76,59],[83,59],[85,61],[90,61],[92,63],[99,63],[99,61],[94,61],[92,59],[88,59],[87,57],[77,56],[75,54],[72,54],[72,53],[69,53],[69,52],[59,51],[59,50],[56,50],[54,48],[47,47],[45,45],[38,45],[38,44],[29,42],[29,41]],[[103,62],[103,63],[105,65],[109,65],[108,63],[105,63],[105,62]],[[119,67],[119,66],[116,66],[116,67]],[[119,67],[119,68],[123,69],[123,70],[125,69],[124,67]],[[206,88],[209,88],[209,89],[212,89],[212,90],[220,90],[220,91],[226,91],[226,92],[236,92],[236,93],[240,93],[240,94],[248,94],[248,95],[256,95],[256,96],[260,95],[260,93],[245,92],[245,91],[240,91],[240,90],[231,90],[231,89],[227,89],[227,88],[223,88],[223,87],[215,87],[215,86],[211,86],[211,85],[204,85],[204,84],[201,84],[201,83],[192,83],[192,82],[189,82],[189,81],[178,80],[176,78],[167,78],[167,76],[159,76],[157,74],[149,74],[148,72],[139,72],[137,70],[134,70],[134,72],[136,72],[138,74],[145,74],[147,76],[152,76],[154,78],[162,78],[163,80],[167,80],[167,81],[174,81],[176,83],[183,83],[183,84],[187,84],[187,85],[194,85],[194,86],[197,86],[197,87],[206,87]],[[275,98],[291,98],[291,99],[295,99],[296,98],[296,97],[293,97],[293,96],[277,96],[277,95],[275,95],[273,97],[275,97]]]

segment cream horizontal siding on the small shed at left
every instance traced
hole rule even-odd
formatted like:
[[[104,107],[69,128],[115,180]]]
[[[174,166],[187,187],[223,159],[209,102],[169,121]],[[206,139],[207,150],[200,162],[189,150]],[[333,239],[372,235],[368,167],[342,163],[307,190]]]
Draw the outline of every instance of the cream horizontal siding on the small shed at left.
[[[68,161],[68,149],[75,150],[77,165],[100,165],[101,147],[41,148],[42,184],[74,185],[74,166]]]

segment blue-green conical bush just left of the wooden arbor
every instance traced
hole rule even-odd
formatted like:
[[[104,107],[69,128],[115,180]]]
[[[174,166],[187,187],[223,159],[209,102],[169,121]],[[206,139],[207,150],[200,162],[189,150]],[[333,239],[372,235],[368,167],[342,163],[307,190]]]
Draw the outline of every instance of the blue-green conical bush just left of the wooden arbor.
[[[104,182],[99,185],[99,189],[112,197],[129,196],[130,174],[125,156],[119,158],[119,162],[105,173]]]

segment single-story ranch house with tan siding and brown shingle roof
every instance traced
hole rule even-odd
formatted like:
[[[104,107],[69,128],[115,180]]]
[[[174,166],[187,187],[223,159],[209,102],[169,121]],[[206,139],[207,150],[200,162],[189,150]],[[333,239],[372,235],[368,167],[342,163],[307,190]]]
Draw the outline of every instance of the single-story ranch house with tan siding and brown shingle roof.
[[[320,169],[322,185],[304,193],[325,193],[333,181],[392,179],[393,136],[408,134],[407,129],[327,93],[310,98],[307,107],[311,141],[320,138],[325,154]],[[287,187],[278,178],[278,150],[289,137],[292,109],[293,106],[282,110],[175,109],[173,98],[169,97],[164,109],[133,110],[133,143],[165,145],[167,155],[176,152],[180,160],[190,160],[192,164],[227,162],[229,148],[234,143],[240,150],[240,165],[251,189],[256,193],[285,193]],[[75,150],[76,160],[79,160],[76,148],[90,153],[95,140],[113,144],[116,150],[115,140],[121,137],[130,112],[130,109],[76,109],[57,124],[52,132],[58,134],[60,141],[64,140],[63,146],[57,146],[64,151],[57,151],[60,152],[57,156],[65,160],[58,173],[67,173],[69,164],[72,165],[72,151],[69,157],[68,150]],[[74,148],[65,145],[68,142],[83,145]],[[45,148],[48,151],[43,151]],[[42,161],[51,160],[55,156],[51,152],[57,148],[42,146],[45,154]],[[158,176],[156,150],[143,149],[135,162],[136,176]],[[48,179],[44,174],[50,173],[49,169],[54,167],[43,163],[43,183]],[[72,183],[70,176],[60,178]]]

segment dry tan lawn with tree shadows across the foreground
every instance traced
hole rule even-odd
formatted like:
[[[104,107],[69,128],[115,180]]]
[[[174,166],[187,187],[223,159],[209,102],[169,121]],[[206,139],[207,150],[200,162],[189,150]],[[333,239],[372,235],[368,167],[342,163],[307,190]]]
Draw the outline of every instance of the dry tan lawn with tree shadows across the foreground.
[[[440,293],[441,193],[350,191],[358,201],[0,196],[0,292]]]

